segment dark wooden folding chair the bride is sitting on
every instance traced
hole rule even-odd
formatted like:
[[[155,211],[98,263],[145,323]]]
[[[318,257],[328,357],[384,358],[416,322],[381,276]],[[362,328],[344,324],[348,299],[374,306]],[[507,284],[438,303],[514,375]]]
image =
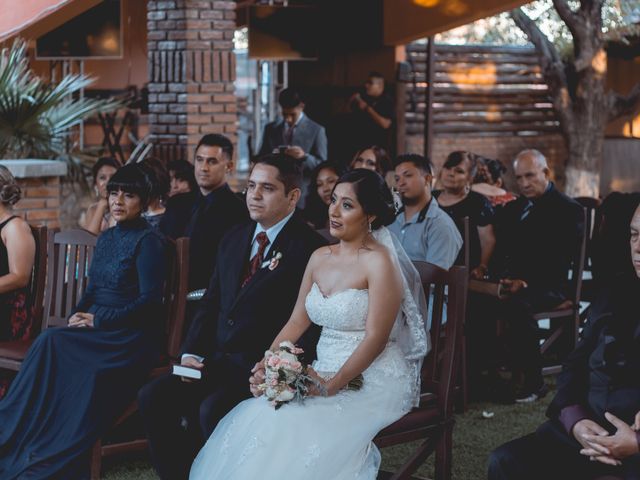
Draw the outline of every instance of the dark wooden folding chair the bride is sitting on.
[[[407,461],[393,474],[393,480],[409,479],[426,458],[435,452],[437,480],[451,478],[455,381],[461,361],[461,335],[467,300],[468,272],[452,267],[448,272],[425,262],[414,262],[425,295],[433,292],[431,351],[422,366],[420,405],[374,439],[379,447],[420,440]],[[442,323],[447,305],[446,323]],[[425,315],[427,313],[425,312]]]

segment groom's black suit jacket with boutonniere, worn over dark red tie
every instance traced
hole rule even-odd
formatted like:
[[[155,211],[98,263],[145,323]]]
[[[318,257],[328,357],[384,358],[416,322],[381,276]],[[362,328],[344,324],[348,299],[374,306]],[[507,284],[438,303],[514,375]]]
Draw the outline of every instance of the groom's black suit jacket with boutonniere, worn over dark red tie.
[[[289,320],[309,257],[326,244],[294,215],[268,252],[269,258],[282,253],[277,267],[259,269],[241,287],[255,228],[255,222],[246,222],[223,238],[215,273],[182,348],[183,353],[204,357],[210,378],[233,376],[245,385],[251,368]],[[311,353],[309,345],[305,347]],[[212,375],[212,371],[223,373]]]

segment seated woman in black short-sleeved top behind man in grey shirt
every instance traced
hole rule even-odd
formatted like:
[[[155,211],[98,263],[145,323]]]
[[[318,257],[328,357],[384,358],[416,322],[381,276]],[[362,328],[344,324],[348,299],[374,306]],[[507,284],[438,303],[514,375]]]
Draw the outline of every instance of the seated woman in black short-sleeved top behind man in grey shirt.
[[[452,152],[440,172],[442,190],[433,192],[438,205],[451,216],[464,235],[464,217],[469,218],[469,271],[474,278],[487,274],[496,244],[493,233],[493,208],[485,197],[471,190],[476,174],[475,156],[469,152]],[[461,261],[462,260],[462,261]],[[458,257],[458,263],[464,259]]]

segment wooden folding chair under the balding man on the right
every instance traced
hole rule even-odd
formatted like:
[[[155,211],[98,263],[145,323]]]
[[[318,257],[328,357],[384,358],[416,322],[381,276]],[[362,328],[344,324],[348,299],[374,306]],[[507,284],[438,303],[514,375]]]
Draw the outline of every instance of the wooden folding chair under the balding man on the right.
[[[571,262],[571,295],[567,300],[556,306],[553,310],[536,312],[533,316],[534,320],[549,320],[549,335],[540,346],[540,352],[546,353],[549,348],[559,342],[561,338],[567,340],[564,350],[568,354],[571,352],[578,342],[578,333],[580,329],[580,296],[582,292],[582,274],[584,272],[585,258],[587,251],[588,224],[586,221],[587,210],[583,209],[585,221],[583,223],[582,238],[579,241],[577,252]],[[554,324],[557,324],[555,328]],[[544,367],[543,375],[554,375],[562,370],[561,362],[556,365]]]

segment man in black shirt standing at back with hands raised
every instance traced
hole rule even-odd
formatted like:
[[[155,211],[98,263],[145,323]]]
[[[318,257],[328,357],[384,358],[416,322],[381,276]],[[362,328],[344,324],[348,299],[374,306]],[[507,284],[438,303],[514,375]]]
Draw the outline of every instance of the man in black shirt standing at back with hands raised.
[[[364,94],[354,93],[349,99],[353,113],[351,133],[353,152],[378,145],[389,151],[395,107],[385,93],[382,74],[371,72],[364,84]]]

